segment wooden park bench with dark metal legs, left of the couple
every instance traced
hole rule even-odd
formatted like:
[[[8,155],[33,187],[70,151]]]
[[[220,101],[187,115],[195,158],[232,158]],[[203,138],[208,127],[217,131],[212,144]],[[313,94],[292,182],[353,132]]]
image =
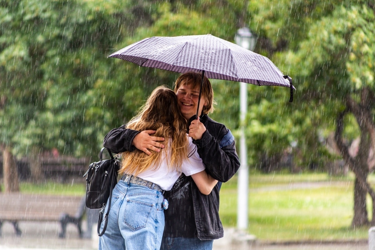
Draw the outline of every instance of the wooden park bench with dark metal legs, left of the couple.
[[[82,196],[0,193],[0,235],[3,222],[12,223],[15,233],[21,235],[18,223],[34,221],[60,222],[60,238],[65,237],[68,223],[73,223],[81,238],[81,221],[85,208]]]

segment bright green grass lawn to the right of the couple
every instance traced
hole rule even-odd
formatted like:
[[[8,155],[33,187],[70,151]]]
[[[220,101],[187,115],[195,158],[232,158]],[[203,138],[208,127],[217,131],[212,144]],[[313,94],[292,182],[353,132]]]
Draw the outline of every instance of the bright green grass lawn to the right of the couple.
[[[374,183],[374,177],[369,181]],[[307,184],[303,187],[301,183]],[[353,176],[251,174],[248,232],[267,241],[330,241],[368,238],[369,227],[351,228]],[[291,188],[293,187],[293,188]],[[371,199],[368,200],[371,207]],[[370,209],[368,211],[371,211]],[[237,223],[237,180],[223,183],[220,217]]]

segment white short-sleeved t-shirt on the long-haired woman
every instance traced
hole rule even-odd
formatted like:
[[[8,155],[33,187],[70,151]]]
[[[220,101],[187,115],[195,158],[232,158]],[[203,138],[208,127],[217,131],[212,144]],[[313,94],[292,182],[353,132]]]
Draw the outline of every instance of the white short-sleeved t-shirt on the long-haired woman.
[[[192,138],[188,137],[189,141],[189,149],[188,153],[190,153],[190,157],[183,160],[181,166],[181,172],[183,172],[186,176],[199,173],[205,169],[201,157],[196,150],[196,146],[192,142]],[[146,181],[151,181],[157,185],[159,185],[163,190],[171,190],[173,184],[177,181],[178,177],[180,177],[181,172],[178,171],[169,171],[168,165],[166,162],[166,157],[164,152],[162,153],[162,159],[160,161],[160,167],[156,170],[152,170],[154,168],[153,165],[150,166],[146,171],[139,174],[138,177],[142,178]],[[170,156],[170,154],[168,154]]]

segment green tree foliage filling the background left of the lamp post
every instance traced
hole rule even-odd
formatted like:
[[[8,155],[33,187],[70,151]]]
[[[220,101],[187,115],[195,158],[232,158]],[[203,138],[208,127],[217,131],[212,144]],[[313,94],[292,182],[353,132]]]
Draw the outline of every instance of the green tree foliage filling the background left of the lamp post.
[[[243,9],[242,1],[2,0],[1,143],[18,157],[34,147],[96,154],[110,129],[178,76],[108,55],[150,36],[211,33],[233,40]],[[229,17],[225,25],[222,16]],[[222,84],[217,96],[233,92]]]

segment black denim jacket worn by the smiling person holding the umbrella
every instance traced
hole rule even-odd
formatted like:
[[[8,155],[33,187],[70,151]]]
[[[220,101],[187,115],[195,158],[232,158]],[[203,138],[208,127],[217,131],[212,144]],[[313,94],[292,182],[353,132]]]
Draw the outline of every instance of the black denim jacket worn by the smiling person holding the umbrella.
[[[223,226],[219,218],[219,191],[222,182],[228,181],[240,167],[234,145],[234,136],[223,124],[207,115],[201,122],[206,127],[202,139],[193,140],[206,171],[219,183],[209,195],[203,195],[191,177],[181,175],[165,198],[169,208],[165,210],[165,237],[198,237],[200,240],[215,240],[223,237]],[[133,151],[131,145],[138,131],[125,129],[125,125],[111,130],[103,145],[114,153]],[[195,221],[195,223],[194,223]]]

